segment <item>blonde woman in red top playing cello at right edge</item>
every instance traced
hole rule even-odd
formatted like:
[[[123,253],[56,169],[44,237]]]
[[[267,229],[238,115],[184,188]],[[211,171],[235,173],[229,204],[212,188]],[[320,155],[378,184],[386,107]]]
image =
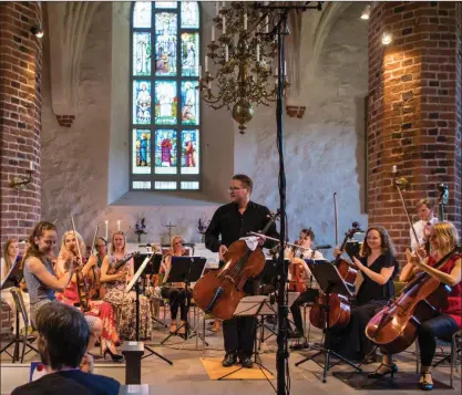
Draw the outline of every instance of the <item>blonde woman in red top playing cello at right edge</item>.
[[[451,222],[437,222],[430,233],[431,254],[422,260],[415,253],[408,254],[408,263],[402,269],[400,281],[410,281],[418,272],[425,273],[439,280],[443,284],[451,287],[448,297],[448,306],[438,316],[421,323],[418,332],[420,346],[421,370],[419,385],[422,391],[433,388],[433,381],[430,367],[437,350],[437,337],[451,339],[451,336],[462,326],[462,287],[461,287],[461,254],[454,253],[440,269],[433,266],[458,243],[458,232]],[[419,253],[424,253],[421,249]],[[380,378],[387,374],[398,372],[398,366],[393,363],[392,355],[384,354],[383,362],[379,368],[369,374],[371,378]]]

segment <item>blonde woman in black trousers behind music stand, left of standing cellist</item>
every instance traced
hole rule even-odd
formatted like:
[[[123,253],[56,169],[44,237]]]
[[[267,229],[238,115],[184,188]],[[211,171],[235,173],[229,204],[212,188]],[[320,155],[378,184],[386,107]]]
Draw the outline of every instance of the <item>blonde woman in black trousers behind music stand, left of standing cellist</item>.
[[[183,257],[185,250],[183,248],[183,238],[181,236],[174,236],[172,238],[170,251],[165,254],[164,262],[161,267],[160,274],[164,273],[163,281],[161,282],[161,295],[162,298],[168,299],[170,312],[171,312],[171,333],[177,332],[181,335],[186,333],[186,321],[188,304],[187,298],[191,299],[192,292],[185,289],[184,282],[168,282],[165,283],[165,276],[170,272],[172,267],[172,257]],[[163,283],[164,282],[164,283]],[[179,308],[179,329],[177,330],[176,315],[178,314]]]

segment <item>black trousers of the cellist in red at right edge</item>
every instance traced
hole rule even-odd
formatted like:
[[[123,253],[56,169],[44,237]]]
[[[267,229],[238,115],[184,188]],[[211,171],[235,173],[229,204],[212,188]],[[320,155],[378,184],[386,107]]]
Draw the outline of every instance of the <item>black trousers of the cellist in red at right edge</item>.
[[[437,339],[451,341],[452,335],[459,330],[454,319],[446,314],[441,314],[434,319],[424,321],[418,332],[420,347],[420,362],[424,366],[430,366],[437,351]]]

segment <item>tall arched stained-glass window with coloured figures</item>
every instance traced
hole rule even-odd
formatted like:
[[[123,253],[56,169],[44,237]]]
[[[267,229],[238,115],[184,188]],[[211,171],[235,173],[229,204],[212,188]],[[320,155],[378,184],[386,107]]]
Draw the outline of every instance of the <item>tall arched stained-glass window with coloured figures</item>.
[[[131,190],[201,189],[201,12],[135,2],[131,23]]]

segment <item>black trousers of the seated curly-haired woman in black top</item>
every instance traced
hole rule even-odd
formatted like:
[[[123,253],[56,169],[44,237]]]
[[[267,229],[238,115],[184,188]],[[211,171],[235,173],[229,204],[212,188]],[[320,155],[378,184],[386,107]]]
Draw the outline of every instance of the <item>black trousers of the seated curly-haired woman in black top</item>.
[[[374,347],[374,343],[366,336],[366,326],[386,304],[383,300],[371,300],[352,308],[348,326],[330,332],[331,349],[348,360],[361,361]]]

